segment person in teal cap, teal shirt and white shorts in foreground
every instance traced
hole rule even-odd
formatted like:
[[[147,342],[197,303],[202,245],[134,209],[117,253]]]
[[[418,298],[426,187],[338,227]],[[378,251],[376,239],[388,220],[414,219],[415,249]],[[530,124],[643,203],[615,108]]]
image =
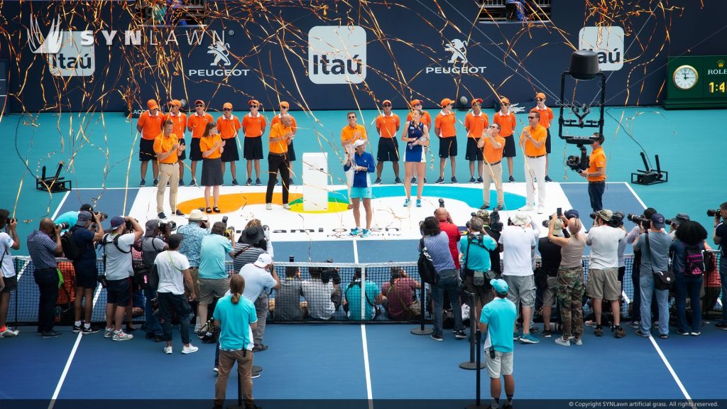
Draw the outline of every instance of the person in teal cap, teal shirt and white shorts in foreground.
[[[485,365],[490,377],[490,408],[499,408],[499,397],[502,394],[500,375],[505,378],[505,396],[507,402],[502,408],[513,408],[515,395],[515,378],[513,378],[513,345],[512,333],[515,331],[515,319],[518,310],[513,301],[507,299],[507,282],[504,279],[490,280],[494,299],[487,303],[480,315],[480,330],[485,338]]]

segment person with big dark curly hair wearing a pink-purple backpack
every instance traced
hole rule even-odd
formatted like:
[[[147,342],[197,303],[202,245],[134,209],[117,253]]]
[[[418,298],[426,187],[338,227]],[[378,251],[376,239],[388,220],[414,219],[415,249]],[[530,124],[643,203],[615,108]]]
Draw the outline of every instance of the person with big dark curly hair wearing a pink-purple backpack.
[[[677,333],[689,335],[686,322],[686,298],[691,301],[691,335],[701,334],[699,327],[702,324],[702,307],[699,295],[702,291],[702,275],[691,274],[686,268],[687,249],[698,248],[704,251],[704,240],[707,239],[707,230],[696,221],[685,221],[679,225],[674,242],[669,248],[672,255],[672,270],[676,276],[676,304],[677,304]]]

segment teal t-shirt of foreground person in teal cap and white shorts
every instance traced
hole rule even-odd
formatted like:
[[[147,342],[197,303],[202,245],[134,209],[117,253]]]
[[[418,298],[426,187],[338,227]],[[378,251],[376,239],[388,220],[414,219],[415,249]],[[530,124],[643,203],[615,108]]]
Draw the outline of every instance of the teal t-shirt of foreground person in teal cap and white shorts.
[[[518,310],[515,309],[513,301],[495,296],[494,300],[487,303],[480,314],[480,322],[487,324],[485,349],[494,346],[495,351],[513,352],[513,333],[517,318]]]

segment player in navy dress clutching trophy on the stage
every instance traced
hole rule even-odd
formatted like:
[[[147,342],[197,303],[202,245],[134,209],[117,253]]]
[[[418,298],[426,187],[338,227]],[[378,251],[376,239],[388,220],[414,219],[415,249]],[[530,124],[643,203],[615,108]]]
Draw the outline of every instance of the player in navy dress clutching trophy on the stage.
[[[422,207],[424,175],[427,171],[427,158],[424,147],[429,146],[429,129],[421,119],[422,110],[414,108],[414,111],[411,111],[411,121],[404,127],[401,134],[401,141],[406,143],[406,151],[404,152],[406,200],[404,201],[404,207],[411,206],[411,180],[417,180],[417,207]]]

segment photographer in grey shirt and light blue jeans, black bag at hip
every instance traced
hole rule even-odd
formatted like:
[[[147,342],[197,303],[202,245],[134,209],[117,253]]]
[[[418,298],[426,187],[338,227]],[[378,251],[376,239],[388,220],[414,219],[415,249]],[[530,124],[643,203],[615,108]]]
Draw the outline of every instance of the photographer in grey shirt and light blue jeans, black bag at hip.
[[[636,335],[651,335],[651,297],[656,294],[659,306],[659,338],[669,336],[669,289],[659,290],[654,282],[654,273],[667,271],[669,265],[669,247],[672,239],[664,231],[664,216],[660,213],[651,215],[651,226],[641,226],[641,234],[634,243],[634,250],[641,253],[639,288],[641,293],[640,328]]]

